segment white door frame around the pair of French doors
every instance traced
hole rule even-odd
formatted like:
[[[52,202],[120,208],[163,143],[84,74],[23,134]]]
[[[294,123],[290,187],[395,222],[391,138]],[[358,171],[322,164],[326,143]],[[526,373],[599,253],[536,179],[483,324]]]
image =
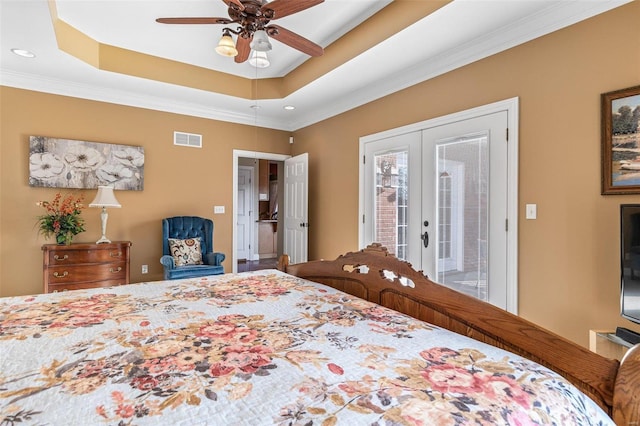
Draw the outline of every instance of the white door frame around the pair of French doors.
[[[379,139],[397,137],[411,132],[417,132],[432,127],[453,124],[471,118],[507,111],[507,126],[509,128],[509,141],[507,152],[507,310],[517,315],[518,313],[518,142],[519,142],[519,98],[510,98],[503,101],[470,108],[464,111],[432,118],[413,123],[380,133],[362,136],[360,138],[359,153],[359,195],[358,195],[358,245],[364,248],[364,226],[362,218],[365,214],[364,205],[364,147],[368,142]]]

